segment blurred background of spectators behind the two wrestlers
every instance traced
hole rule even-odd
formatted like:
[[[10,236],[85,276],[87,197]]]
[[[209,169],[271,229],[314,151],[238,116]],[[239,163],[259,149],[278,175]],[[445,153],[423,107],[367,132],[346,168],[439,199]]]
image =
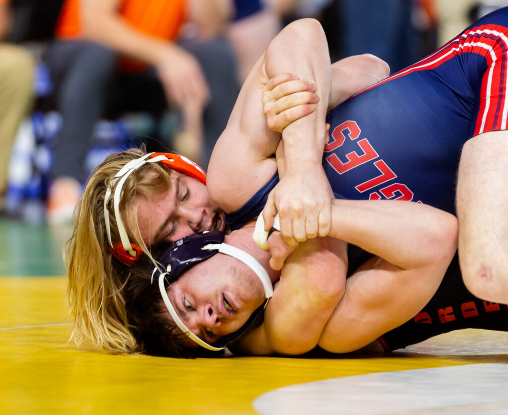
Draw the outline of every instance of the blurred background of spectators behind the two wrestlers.
[[[206,168],[246,74],[292,20],[319,19],[332,60],[369,52],[388,62],[393,73],[506,5],[0,0],[4,248],[16,241],[12,221],[71,223],[87,175],[111,152],[144,144],[148,151],[174,151]]]

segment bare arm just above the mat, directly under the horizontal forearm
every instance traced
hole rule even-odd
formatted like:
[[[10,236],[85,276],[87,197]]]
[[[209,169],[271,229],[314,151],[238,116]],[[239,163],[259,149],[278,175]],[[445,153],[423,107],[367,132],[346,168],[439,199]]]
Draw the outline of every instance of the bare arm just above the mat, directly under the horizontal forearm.
[[[401,270],[377,257],[370,259],[347,279],[319,346],[333,353],[355,351],[414,317],[436,292],[448,263]]]

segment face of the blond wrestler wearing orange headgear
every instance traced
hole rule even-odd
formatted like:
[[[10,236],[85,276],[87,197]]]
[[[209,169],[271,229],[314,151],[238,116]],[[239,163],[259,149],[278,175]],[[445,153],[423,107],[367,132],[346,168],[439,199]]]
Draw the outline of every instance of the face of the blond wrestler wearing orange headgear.
[[[170,181],[166,192],[139,198],[137,219],[147,246],[174,242],[203,230],[224,231],[224,212],[212,202],[204,184],[173,172]]]

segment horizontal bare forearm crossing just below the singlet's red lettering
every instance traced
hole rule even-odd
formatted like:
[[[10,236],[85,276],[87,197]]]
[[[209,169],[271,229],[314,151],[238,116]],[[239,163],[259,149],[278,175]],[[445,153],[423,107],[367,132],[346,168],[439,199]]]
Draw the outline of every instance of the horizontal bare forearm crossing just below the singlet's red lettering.
[[[330,236],[407,270],[455,252],[457,220],[422,203],[336,199]]]

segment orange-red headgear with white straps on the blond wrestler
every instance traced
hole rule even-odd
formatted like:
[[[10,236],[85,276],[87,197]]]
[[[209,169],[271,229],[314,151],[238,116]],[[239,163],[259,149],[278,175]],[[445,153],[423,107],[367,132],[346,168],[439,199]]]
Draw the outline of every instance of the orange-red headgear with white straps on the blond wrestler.
[[[139,255],[143,252],[140,246],[132,244],[129,241],[129,237],[123,225],[123,222],[119,213],[119,201],[120,201],[120,192],[125,182],[126,177],[131,174],[133,171],[137,170],[139,167],[143,166],[146,163],[157,163],[161,162],[165,166],[183,173],[193,179],[198,180],[202,184],[206,185],[206,173],[200,166],[198,166],[193,161],[187,159],[184,156],[179,156],[173,153],[149,153],[145,156],[140,157],[139,159],[131,160],[127,163],[115,176],[115,181],[113,184],[107,189],[106,196],[104,198],[104,219],[106,222],[106,231],[108,234],[108,241],[110,246],[110,251],[113,256],[119,261],[123,262],[126,265],[132,265],[132,263],[139,257]],[[112,243],[111,241],[111,232],[110,232],[110,222],[109,222],[109,212],[107,210],[106,202],[113,192],[113,186],[117,184],[116,189],[114,191],[114,207],[115,207],[115,216],[116,216],[116,224],[118,227],[118,232],[120,233],[120,239],[122,242]]]

